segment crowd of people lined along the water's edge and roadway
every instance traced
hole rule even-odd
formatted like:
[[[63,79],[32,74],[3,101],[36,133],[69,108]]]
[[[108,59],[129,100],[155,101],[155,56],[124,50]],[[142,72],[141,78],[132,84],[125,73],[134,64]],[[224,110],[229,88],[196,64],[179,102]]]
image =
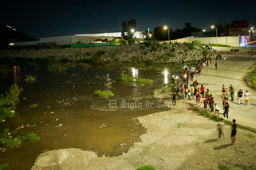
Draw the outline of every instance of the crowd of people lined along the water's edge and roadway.
[[[203,58],[202,61],[198,61],[198,64],[194,66],[184,66],[183,72],[176,79],[176,91],[173,92],[173,101],[172,104],[176,105],[176,100],[178,96],[181,95],[181,99],[188,98],[189,101],[195,101],[195,105],[198,107],[203,107],[210,113],[214,115],[220,115],[220,108],[214,100],[214,96],[209,92],[209,89],[206,89],[204,85],[199,85],[197,80],[194,81],[194,77],[201,75],[203,71],[203,67],[208,67],[209,63],[211,64],[212,57],[207,55],[206,58]],[[218,55],[218,58],[220,55]],[[224,60],[223,60],[224,61]],[[184,65],[184,60],[181,61],[182,65]],[[216,66],[217,69],[217,66]],[[190,84],[190,85],[189,85]],[[229,88],[225,87],[225,84],[222,85],[222,109],[223,109],[223,119],[228,120],[228,112],[229,112],[229,98],[231,97],[231,102],[234,102],[234,92],[235,89],[233,85],[230,85]],[[250,94],[246,90],[244,93],[242,89],[237,92],[238,105],[242,104],[242,100],[240,98],[249,98]],[[244,105],[247,105],[247,100],[245,100]],[[203,105],[202,105],[203,103]],[[191,109],[194,109],[194,105],[192,105]]]

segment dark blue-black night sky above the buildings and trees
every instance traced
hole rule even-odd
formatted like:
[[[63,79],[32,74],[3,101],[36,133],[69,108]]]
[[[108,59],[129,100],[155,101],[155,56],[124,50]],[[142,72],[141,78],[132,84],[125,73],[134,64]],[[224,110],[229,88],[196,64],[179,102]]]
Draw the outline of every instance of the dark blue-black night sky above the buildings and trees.
[[[241,4],[191,0],[1,0],[0,23],[34,38],[121,32],[122,22],[130,19],[137,21],[136,31],[148,27],[153,31],[162,25],[182,29],[186,22],[209,30],[212,24],[224,26],[238,20],[249,20],[249,27],[256,27],[250,1]]]

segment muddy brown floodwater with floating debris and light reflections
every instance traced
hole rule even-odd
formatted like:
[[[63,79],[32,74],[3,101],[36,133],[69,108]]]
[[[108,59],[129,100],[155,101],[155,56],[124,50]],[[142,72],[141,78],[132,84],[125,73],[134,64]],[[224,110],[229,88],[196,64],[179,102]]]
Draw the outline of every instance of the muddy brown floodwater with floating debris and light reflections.
[[[142,115],[161,112],[168,108],[157,104],[153,89],[171,81],[173,73],[168,66],[160,69],[135,69],[132,67],[73,68],[64,72],[50,73],[43,69],[29,70],[16,67],[12,77],[0,83],[3,93],[13,83],[24,89],[16,114],[0,123],[0,131],[10,131],[23,125],[17,135],[35,133],[37,142],[22,142],[15,148],[0,153],[0,165],[8,163],[6,170],[27,170],[44,150],[81,148],[92,150],[99,156],[116,156],[127,152],[139,136],[145,133],[137,121]],[[121,71],[131,72],[134,77],[150,78],[153,84],[116,82]],[[36,82],[24,82],[26,75],[37,76]],[[99,98],[96,90],[110,90],[115,96]],[[22,100],[25,97],[27,100]],[[151,105],[150,105],[151,103]],[[37,107],[29,108],[29,105]],[[151,107],[150,107],[151,106]],[[107,126],[107,127],[104,127]]]

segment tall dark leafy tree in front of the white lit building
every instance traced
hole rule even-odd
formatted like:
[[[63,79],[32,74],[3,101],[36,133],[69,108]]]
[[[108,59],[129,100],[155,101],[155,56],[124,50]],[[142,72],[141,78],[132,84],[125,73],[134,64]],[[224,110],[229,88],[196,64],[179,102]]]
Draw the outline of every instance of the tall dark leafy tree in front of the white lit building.
[[[136,20],[131,19],[128,22],[123,21],[122,27],[123,27],[123,31],[121,33],[121,36],[123,37],[123,39],[127,41],[128,39],[133,38],[133,35],[136,32],[136,27],[137,27]],[[132,28],[134,29],[134,32],[131,31]]]

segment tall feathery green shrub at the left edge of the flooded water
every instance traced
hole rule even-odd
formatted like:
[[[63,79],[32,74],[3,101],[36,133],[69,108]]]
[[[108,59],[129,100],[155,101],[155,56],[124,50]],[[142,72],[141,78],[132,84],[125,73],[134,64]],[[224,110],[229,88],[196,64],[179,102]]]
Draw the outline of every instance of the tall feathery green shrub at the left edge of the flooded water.
[[[12,85],[9,88],[9,91],[6,92],[6,97],[7,97],[7,102],[11,105],[11,106],[16,106],[19,102],[19,95],[20,92],[22,91],[22,88],[19,88],[18,85]]]

